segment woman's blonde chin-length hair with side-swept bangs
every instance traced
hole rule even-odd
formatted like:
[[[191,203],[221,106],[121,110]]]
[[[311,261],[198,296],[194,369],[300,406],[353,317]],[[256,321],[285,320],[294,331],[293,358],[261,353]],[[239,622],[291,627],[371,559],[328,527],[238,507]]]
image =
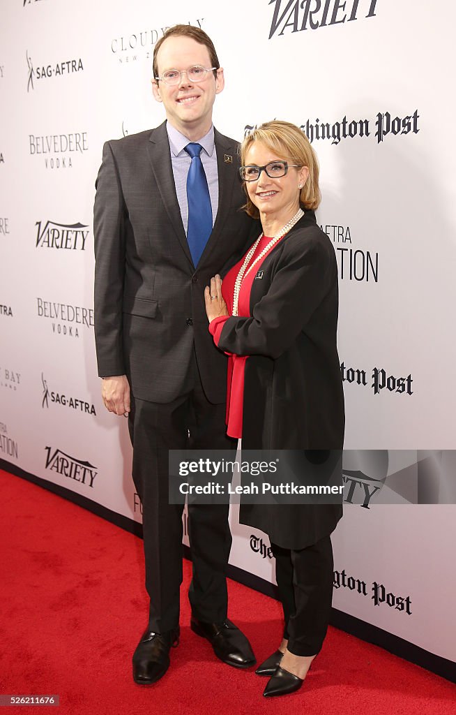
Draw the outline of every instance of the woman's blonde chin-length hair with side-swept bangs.
[[[240,145],[240,163],[243,166],[245,165],[245,156],[253,142],[265,144],[268,149],[277,154],[278,159],[286,159],[290,164],[308,167],[309,175],[300,192],[300,204],[305,209],[317,209],[321,201],[320,187],[318,186],[318,159],[303,130],[296,127],[295,124],[280,122],[278,119],[261,124],[260,127],[253,129],[253,132],[250,132]],[[249,216],[258,219],[260,212],[250,201],[245,182],[244,190],[247,202],[243,208]]]

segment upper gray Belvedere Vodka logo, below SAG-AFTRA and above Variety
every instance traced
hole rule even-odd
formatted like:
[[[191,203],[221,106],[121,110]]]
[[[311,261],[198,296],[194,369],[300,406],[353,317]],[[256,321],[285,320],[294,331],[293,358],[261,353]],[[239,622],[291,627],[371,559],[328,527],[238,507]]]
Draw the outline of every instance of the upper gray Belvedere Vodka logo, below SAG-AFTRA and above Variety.
[[[88,133],[29,134],[29,153],[43,156],[46,169],[71,169],[78,154],[88,152]]]

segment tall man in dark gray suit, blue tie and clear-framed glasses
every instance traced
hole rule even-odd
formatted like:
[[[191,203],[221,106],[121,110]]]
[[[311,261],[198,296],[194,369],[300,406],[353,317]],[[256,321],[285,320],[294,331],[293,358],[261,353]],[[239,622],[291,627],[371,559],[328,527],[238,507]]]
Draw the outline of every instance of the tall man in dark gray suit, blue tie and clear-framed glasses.
[[[168,450],[233,448],[226,437],[226,358],[208,332],[203,290],[258,229],[239,211],[237,143],[213,128],[224,79],[208,35],[177,25],[158,41],[153,94],[167,121],[106,142],[97,179],[95,337],[106,408],[128,413],[143,505],[146,632],[133,678],[151,684],[178,643],[182,507],[168,503]],[[227,619],[228,506],[188,507],[191,628],[236,667],[255,663]]]

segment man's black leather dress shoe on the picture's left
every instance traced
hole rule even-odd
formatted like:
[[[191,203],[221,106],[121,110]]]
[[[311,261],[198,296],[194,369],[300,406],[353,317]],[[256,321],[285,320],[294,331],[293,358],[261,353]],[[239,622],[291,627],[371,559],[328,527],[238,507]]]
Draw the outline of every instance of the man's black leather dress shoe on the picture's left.
[[[145,631],[133,653],[133,680],[138,685],[151,685],[169,668],[169,651],[179,642],[179,628],[165,633]]]

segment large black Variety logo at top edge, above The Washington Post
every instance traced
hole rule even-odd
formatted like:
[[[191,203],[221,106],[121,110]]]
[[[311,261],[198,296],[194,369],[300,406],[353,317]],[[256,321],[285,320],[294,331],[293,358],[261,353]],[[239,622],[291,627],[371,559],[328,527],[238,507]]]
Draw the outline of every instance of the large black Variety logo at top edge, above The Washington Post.
[[[375,17],[377,0],[269,0],[273,5],[273,20],[269,39],[277,34],[318,30],[329,25],[353,22],[361,16]],[[365,14],[367,11],[367,14]]]

